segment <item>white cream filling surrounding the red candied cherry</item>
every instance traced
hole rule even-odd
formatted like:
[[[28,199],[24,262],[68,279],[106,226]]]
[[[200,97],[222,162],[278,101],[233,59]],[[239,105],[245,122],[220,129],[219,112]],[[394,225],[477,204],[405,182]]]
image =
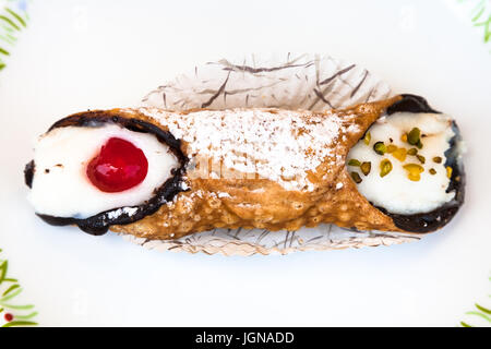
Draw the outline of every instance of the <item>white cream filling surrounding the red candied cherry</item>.
[[[87,164],[110,139],[120,137],[141,148],[148,161],[145,179],[129,190],[106,193],[86,176]],[[151,133],[133,132],[117,124],[99,128],[65,127],[41,135],[34,151],[35,173],[28,200],[36,213],[56,217],[87,218],[101,212],[136,206],[179,166],[169,147]],[[134,213],[134,209],[127,209]]]

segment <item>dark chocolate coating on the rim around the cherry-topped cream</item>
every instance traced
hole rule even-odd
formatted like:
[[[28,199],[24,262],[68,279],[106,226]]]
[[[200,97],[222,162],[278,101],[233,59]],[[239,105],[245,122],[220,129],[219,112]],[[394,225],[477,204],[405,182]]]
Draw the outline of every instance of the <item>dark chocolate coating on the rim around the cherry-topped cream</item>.
[[[37,214],[37,216],[39,216],[47,224],[52,226],[76,225],[81,230],[89,234],[100,236],[106,233],[112,225],[128,225],[140,220],[145,216],[154,214],[163,204],[171,201],[175,195],[183,191],[181,183],[183,181],[182,176],[184,174],[188,158],[181,152],[181,143],[179,140],[176,140],[170,132],[160,130],[152,123],[139,119],[127,119],[120,116],[107,115],[105,111],[87,111],[57,121],[51,128],[49,128],[48,132],[53,129],[64,127],[97,128],[105,123],[116,123],[134,132],[154,134],[160,143],[169,146],[169,149],[178,158],[180,167],[171,171],[172,177],[156,189],[153,197],[139,206],[132,206],[132,208],[136,208],[136,210],[131,216],[123,210],[118,212],[118,209],[123,207],[111,208],[84,219]],[[25,182],[29,188],[33,182],[34,169],[35,164],[34,160],[32,160],[26,165],[24,171]]]

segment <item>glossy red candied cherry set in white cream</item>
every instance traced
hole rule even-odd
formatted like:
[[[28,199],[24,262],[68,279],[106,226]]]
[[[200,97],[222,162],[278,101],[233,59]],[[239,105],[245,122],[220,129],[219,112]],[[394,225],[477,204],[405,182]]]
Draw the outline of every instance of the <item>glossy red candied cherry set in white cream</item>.
[[[103,192],[133,188],[146,177],[148,161],[142,149],[118,137],[109,139],[87,166],[87,177]]]

